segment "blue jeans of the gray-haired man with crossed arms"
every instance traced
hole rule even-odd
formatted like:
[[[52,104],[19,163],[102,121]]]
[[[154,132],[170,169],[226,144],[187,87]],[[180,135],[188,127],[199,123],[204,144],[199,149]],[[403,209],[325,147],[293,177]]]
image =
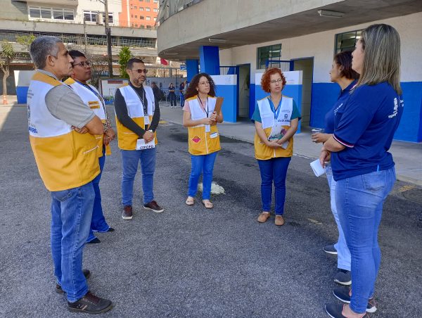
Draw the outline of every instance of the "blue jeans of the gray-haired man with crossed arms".
[[[51,192],[51,254],[57,284],[71,303],[88,292],[82,273],[82,250],[91,226],[95,191],[92,182]]]

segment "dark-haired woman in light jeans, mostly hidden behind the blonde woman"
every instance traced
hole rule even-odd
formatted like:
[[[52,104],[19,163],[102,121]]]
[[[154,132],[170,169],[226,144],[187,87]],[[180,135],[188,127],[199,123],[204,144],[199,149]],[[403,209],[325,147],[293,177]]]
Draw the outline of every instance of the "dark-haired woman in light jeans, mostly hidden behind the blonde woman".
[[[346,103],[349,98],[350,91],[356,85],[356,79],[359,77],[357,72],[352,69],[352,52],[340,52],[334,56],[333,65],[331,65],[330,79],[331,82],[337,83],[340,86],[340,95],[337,101],[325,117],[325,133],[312,134],[312,141],[315,143],[324,143],[334,132],[334,114]],[[333,172],[331,165],[326,165],[326,174],[328,179],[328,186],[330,186],[331,196],[331,211],[333,212],[335,223],[338,228],[338,241],[335,244],[324,246],[324,251],[328,254],[337,254],[338,273],[334,276],[334,281],[341,285],[352,284],[350,277],[350,252],[347,248],[345,234],[341,229],[340,220],[338,220],[337,208],[335,208],[335,180],[333,179]]]

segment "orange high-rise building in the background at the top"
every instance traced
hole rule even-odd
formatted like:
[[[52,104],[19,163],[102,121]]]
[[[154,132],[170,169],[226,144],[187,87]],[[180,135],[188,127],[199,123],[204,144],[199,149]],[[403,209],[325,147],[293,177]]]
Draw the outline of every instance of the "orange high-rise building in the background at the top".
[[[154,29],[158,8],[158,0],[122,0],[120,25]]]

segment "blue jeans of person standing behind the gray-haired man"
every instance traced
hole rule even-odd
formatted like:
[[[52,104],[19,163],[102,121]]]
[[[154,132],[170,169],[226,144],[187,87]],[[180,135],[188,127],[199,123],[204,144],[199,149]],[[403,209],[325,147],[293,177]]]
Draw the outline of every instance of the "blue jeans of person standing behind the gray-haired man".
[[[103,215],[103,208],[101,206],[101,192],[100,192],[100,180],[101,174],[103,174],[104,163],[106,163],[106,146],[103,147],[103,156],[98,158],[98,164],[100,165],[100,174],[92,180],[92,185],[95,191],[94,210],[92,211],[91,229],[89,229],[89,236],[87,242],[96,239],[93,231],[106,232],[110,227],[107,224],[106,218]]]

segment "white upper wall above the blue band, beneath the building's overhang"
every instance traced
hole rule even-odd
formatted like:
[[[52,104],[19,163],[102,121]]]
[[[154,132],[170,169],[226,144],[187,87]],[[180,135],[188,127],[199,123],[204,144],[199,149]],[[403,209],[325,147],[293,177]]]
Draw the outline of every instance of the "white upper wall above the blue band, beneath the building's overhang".
[[[340,29],[308,34],[302,37],[281,39],[274,42],[239,46],[220,51],[220,65],[250,63],[251,82],[255,82],[257,48],[281,43],[281,60],[314,57],[313,82],[329,82],[335,49],[335,34],[360,30],[374,23],[386,23],[395,27],[401,38],[402,82],[422,81],[422,13],[397,18],[352,25]]]

